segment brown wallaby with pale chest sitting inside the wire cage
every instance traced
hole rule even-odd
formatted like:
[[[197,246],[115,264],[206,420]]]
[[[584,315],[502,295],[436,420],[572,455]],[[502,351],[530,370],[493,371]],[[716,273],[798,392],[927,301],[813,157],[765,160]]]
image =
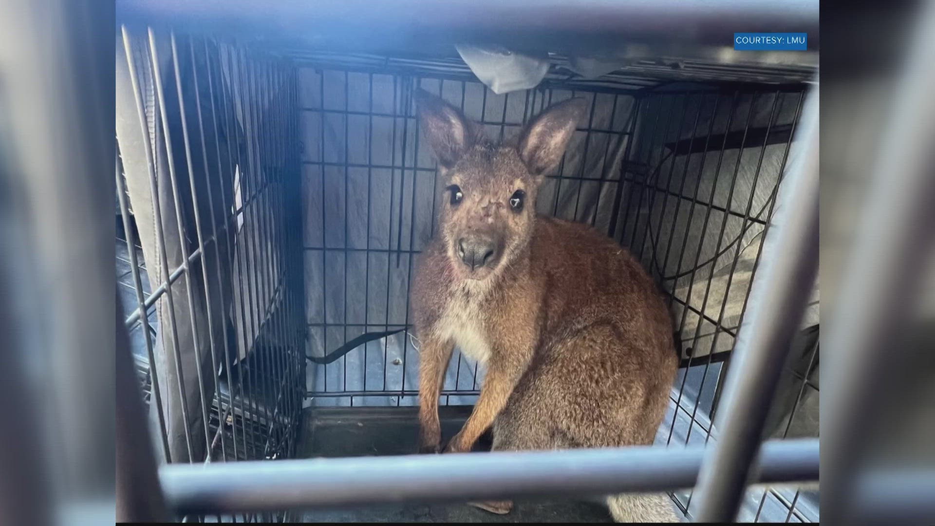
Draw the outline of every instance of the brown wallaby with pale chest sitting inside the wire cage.
[[[420,348],[420,451],[439,452],[439,392],[454,345],[486,368],[445,452],[493,426],[495,451],[653,444],[678,357],[640,264],[596,229],[536,214],[545,175],[586,109],[572,98],[497,144],[436,95],[415,95],[443,178],[439,234],[412,285]],[[660,494],[607,499],[618,522],[678,522]],[[473,503],[505,514],[511,502]]]

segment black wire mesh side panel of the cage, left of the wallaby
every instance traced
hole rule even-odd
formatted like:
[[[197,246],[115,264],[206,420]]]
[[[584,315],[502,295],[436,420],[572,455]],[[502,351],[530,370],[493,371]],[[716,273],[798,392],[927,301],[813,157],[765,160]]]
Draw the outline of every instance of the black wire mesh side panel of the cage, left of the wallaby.
[[[292,457],[306,390],[295,69],[126,29],[116,60],[117,272],[153,443],[168,462]]]

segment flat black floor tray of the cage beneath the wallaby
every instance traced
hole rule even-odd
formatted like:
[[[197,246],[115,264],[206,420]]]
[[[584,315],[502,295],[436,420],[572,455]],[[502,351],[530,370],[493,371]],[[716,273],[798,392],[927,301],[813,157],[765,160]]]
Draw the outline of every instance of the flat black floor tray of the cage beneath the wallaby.
[[[441,432],[453,436],[470,406],[441,407]],[[306,411],[303,457],[406,455],[416,452],[416,407],[340,407]],[[475,448],[490,447],[483,437]],[[517,501],[508,515],[494,515],[467,504],[387,505],[303,512],[306,522],[611,522],[600,504],[575,501]]]

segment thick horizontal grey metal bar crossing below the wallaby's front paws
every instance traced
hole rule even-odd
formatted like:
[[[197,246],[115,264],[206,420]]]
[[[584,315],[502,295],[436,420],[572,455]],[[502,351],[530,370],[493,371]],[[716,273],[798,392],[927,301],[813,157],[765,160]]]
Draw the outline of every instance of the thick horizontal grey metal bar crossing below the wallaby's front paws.
[[[170,464],[160,480],[180,514],[273,511],[535,495],[663,491],[695,485],[704,447],[409,455]],[[816,480],[816,439],[770,441],[764,483]]]

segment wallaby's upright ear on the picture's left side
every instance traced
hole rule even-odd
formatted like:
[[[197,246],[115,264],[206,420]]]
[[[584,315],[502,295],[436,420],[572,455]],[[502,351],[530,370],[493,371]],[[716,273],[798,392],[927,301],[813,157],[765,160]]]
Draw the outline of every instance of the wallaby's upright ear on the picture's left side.
[[[477,139],[476,126],[460,110],[422,88],[412,94],[419,123],[441,166],[452,168]]]

